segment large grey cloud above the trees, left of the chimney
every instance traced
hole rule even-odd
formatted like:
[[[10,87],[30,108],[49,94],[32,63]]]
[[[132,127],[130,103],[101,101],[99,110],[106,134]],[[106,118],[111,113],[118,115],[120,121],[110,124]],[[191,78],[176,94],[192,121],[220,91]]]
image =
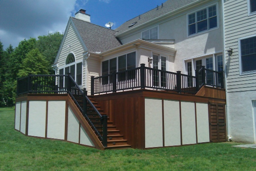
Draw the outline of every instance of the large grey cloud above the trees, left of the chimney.
[[[81,1],[82,0],[78,0]],[[0,40],[7,48],[24,38],[64,32],[76,0],[0,0]]]

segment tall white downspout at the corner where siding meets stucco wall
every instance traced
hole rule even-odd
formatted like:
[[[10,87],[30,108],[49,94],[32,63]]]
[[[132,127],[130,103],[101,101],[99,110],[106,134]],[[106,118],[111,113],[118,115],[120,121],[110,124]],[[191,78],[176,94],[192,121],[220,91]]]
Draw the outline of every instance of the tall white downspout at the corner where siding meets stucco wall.
[[[225,82],[225,93],[226,93],[226,125],[228,141],[231,141],[230,127],[229,127],[229,113],[228,113],[228,91],[227,91],[227,70],[226,70],[226,50],[225,50],[225,22],[224,22],[224,0],[221,0],[221,11],[222,11],[222,40],[223,40],[223,56],[224,56],[224,82]]]

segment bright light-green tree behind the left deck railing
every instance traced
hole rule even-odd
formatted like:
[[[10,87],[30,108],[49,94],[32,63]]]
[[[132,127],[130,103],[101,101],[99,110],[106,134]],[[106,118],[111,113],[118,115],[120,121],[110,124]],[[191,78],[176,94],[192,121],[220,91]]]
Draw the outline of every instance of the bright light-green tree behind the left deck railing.
[[[18,72],[18,77],[25,77],[28,74],[49,74],[49,62],[40,53],[38,48],[31,50],[22,61],[21,69]]]

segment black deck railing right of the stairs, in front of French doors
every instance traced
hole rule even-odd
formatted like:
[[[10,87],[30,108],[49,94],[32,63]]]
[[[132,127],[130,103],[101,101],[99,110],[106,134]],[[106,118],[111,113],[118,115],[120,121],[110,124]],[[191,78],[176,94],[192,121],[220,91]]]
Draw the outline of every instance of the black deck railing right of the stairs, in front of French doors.
[[[224,88],[223,72],[208,70],[202,66],[199,71],[196,70],[196,76],[189,76],[180,71],[168,72],[141,64],[139,68],[113,71],[112,74],[96,78],[92,76],[91,95],[138,88],[195,94],[202,85]]]

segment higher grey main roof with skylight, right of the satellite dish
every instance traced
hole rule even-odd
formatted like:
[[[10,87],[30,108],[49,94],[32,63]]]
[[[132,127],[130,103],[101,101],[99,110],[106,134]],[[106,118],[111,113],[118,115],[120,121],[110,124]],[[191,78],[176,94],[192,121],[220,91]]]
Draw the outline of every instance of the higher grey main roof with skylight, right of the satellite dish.
[[[119,26],[118,28],[116,28],[116,31],[118,32],[116,34],[116,36],[118,36],[118,34],[125,32],[135,26],[144,24],[145,22],[153,20],[154,18],[160,17],[164,14],[167,14],[168,12],[172,12],[174,10],[177,10],[183,6],[186,6],[186,5],[196,2],[196,1],[198,1],[198,0],[167,0],[166,2],[163,3],[163,6],[160,5],[160,6],[158,6],[158,8],[154,8],[148,12],[145,12],[144,14],[141,14],[140,16],[137,16],[137,17],[127,21],[124,24],[122,24],[121,26]],[[135,22],[137,22],[137,23],[134,24],[133,26],[131,26]]]

